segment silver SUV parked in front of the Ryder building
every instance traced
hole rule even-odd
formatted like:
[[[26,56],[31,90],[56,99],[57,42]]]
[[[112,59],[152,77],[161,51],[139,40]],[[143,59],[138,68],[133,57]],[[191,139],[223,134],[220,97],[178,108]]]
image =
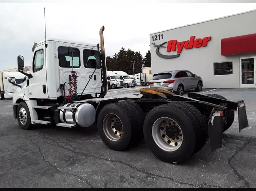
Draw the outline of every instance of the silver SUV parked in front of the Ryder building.
[[[200,76],[188,70],[174,70],[154,74],[149,82],[149,88],[162,88],[183,95],[188,89],[201,91],[203,80]]]

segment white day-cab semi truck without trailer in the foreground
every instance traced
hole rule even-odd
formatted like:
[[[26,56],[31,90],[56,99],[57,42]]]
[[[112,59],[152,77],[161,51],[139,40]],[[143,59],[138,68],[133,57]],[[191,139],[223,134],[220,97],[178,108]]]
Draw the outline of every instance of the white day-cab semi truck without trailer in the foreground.
[[[104,29],[95,45],[60,39],[35,43],[29,74],[23,71],[24,57],[17,57],[18,70],[26,75],[13,95],[13,116],[20,128],[96,126],[102,142],[112,150],[123,151],[144,139],[156,157],[177,164],[188,161],[207,139],[210,151],[221,148],[222,132],[232,125],[236,111],[239,131],[248,127],[245,102],[218,94],[189,92],[184,97],[165,89],[141,88],[138,97],[105,97]],[[72,64],[66,59],[71,55]],[[89,55],[97,55],[95,68],[83,64]]]

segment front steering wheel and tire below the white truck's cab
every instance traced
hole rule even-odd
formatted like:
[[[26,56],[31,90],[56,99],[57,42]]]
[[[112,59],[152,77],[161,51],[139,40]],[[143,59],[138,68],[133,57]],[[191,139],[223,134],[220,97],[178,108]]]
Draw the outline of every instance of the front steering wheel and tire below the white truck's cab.
[[[30,112],[25,102],[20,102],[17,107],[17,119],[20,128],[24,130],[32,129],[33,125],[30,120]]]

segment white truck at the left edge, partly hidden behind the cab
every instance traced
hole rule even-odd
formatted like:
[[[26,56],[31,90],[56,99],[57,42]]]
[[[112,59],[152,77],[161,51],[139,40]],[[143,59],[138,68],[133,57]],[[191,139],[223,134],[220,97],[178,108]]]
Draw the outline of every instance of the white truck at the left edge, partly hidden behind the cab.
[[[15,82],[19,86],[9,83],[9,77],[15,77]],[[20,72],[0,72],[0,99],[12,98],[14,92],[19,89],[25,75]]]

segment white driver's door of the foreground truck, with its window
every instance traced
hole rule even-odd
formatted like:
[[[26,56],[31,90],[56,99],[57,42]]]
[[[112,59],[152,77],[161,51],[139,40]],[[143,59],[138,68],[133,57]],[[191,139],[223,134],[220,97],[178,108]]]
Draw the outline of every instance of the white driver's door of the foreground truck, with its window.
[[[29,79],[28,97],[29,98],[48,98],[46,80],[46,54],[44,45],[38,46],[33,55],[30,73],[33,75]]]

